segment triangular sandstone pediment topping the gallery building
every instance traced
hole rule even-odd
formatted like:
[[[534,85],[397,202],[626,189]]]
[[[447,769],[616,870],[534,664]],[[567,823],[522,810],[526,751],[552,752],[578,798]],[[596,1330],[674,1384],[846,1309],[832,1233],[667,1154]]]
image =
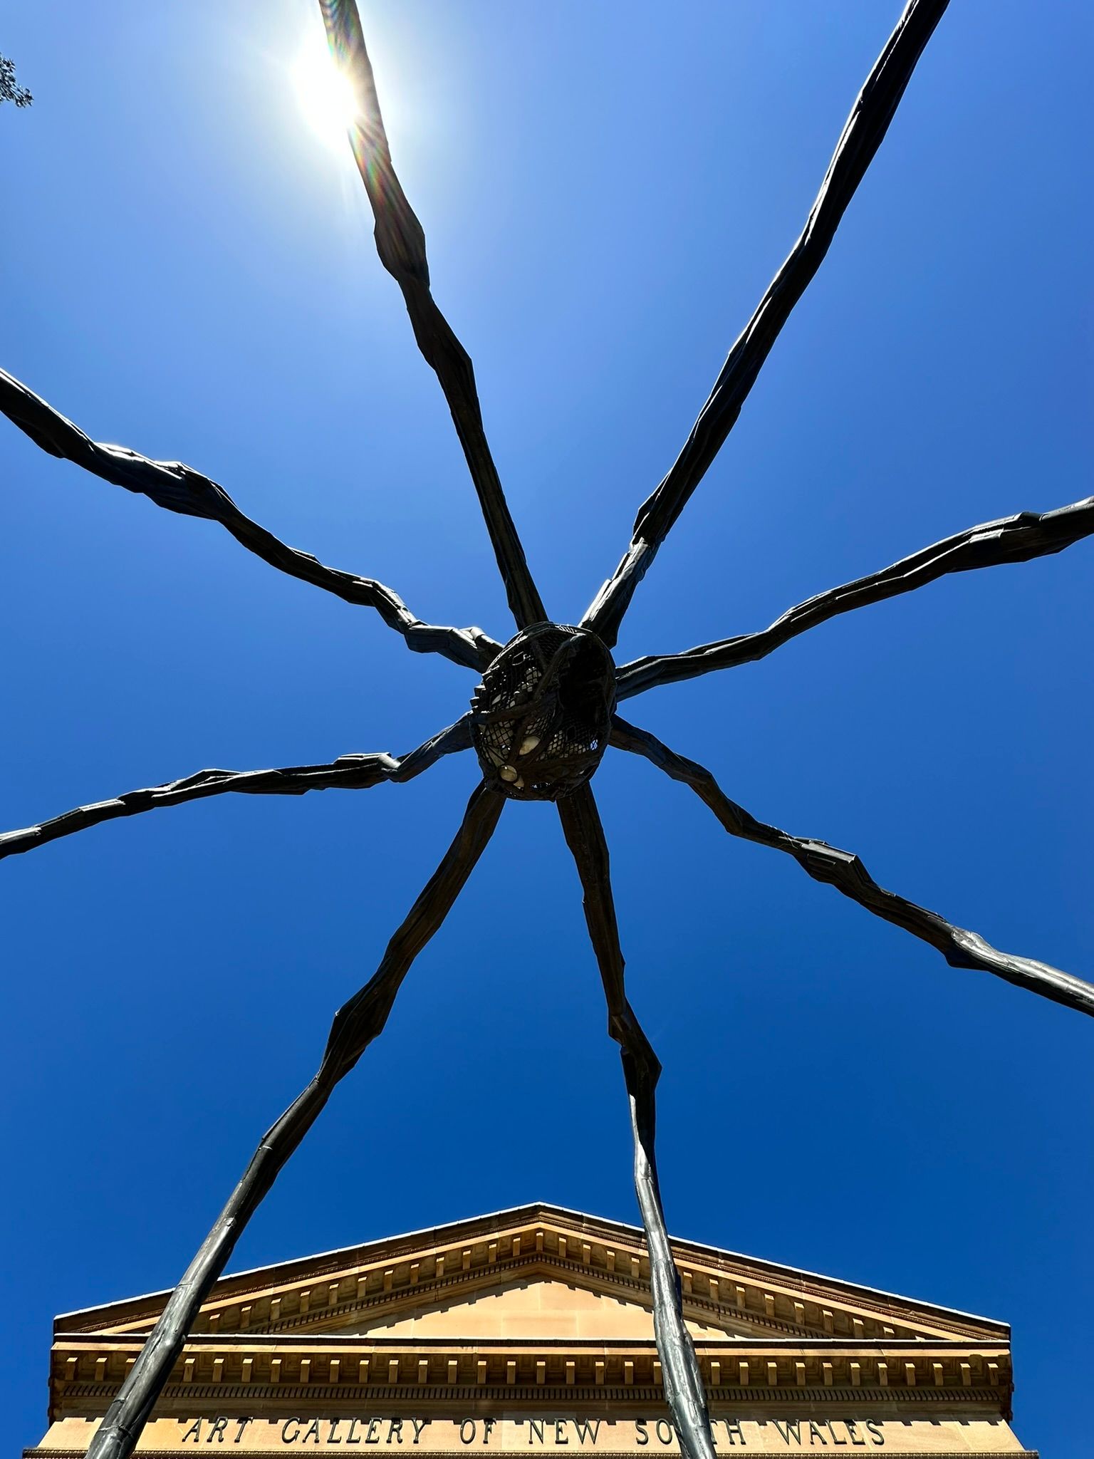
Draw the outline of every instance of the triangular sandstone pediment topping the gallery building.
[[[672,1240],[696,1336],[1005,1341],[1005,1323],[791,1266]],[[147,1332],[166,1293],[66,1313],[55,1332]],[[652,1335],[640,1228],[534,1204],[222,1278],[198,1334],[470,1338],[486,1322],[528,1336]],[[538,1316],[537,1316],[538,1315]],[[540,1326],[535,1326],[535,1320]],[[459,1323],[470,1328],[457,1331]],[[616,1323],[617,1326],[613,1326]],[[592,1329],[597,1329],[595,1332]],[[601,1331],[602,1329],[602,1331]],[[492,1335],[499,1335],[496,1326]]]

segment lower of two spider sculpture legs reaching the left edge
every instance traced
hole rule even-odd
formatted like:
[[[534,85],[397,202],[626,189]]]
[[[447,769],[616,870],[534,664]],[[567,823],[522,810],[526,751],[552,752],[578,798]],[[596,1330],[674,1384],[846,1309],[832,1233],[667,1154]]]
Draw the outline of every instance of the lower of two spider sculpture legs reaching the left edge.
[[[448,730],[426,740],[417,750],[395,759],[392,754],[343,754],[330,765],[290,765],[280,770],[198,770],[182,781],[153,785],[146,791],[125,791],[109,801],[77,805],[76,810],[54,816],[41,826],[0,832],[0,859],[45,846],[47,842],[71,836],[77,830],[101,821],[139,816],[162,805],[182,805],[203,801],[209,795],[303,795],[306,791],[368,791],[381,781],[413,781],[430,765],[457,750],[471,746],[471,716],[464,715]]]

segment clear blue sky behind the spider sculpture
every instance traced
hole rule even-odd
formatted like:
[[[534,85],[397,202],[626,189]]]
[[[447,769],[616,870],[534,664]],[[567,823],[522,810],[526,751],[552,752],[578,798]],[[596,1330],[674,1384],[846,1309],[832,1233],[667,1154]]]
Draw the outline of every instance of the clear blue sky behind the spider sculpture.
[[[368,3],[397,166],[550,611],[576,619],[805,217],[899,0]],[[349,152],[289,82],[308,0],[9,7],[1,363],[417,613],[509,623]],[[766,624],[1090,486],[1088,7],[964,0],[618,659]],[[3,826],[203,766],[403,751],[474,678],[0,422]],[[945,579],[633,719],[757,816],[1094,976],[1094,546]],[[315,1068],[474,781],[223,797],[0,868],[4,1447],[55,1312],[169,1285]],[[671,1227],[1014,1325],[1020,1437],[1084,1452],[1078,1014],[877,922],[605,760]],[[515,805],[235,1265],[543,1198],[633,1220],[618,1058],[548,805]]]

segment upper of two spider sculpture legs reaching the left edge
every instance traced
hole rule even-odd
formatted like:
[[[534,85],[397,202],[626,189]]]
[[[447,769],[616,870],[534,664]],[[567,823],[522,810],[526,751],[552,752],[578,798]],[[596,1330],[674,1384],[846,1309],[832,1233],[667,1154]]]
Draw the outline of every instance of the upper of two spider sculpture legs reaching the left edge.
[[[500,649],[481,629],[448,629],[423,623],[406,603],[372,578],[359,578],[338,568],[327,568],[311,553],[287,547],[273,533],[252,522],[222,486],[181,461],[152,461],[127,446],[92,441],[79,426],[35,395],[20,381],[0,371],[0,413],[19,426],[35,445],[63,461],[73,461],[85,471],[127,492],[147,496],[156,506],[182,516],[203,516],[220,525],[238,543],[271,568],[335,594],[346,603],[375,608],[389,629],[395,629],[417,654],[443,654],[454,664],[486,668]]]

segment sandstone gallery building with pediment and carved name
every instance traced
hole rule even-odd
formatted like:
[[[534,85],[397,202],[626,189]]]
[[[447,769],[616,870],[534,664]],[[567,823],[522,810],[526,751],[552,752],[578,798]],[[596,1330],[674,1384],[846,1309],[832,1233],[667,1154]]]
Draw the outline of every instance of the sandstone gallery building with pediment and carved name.
[[[719,1453],[1036,1459],[1009,1328],[672,1242]],[[86,1455],[165,1293],[57,1319],[48,1431]],[[139,1453],[678,1455],[642,1231],[528,1205],[222,1278]]]

